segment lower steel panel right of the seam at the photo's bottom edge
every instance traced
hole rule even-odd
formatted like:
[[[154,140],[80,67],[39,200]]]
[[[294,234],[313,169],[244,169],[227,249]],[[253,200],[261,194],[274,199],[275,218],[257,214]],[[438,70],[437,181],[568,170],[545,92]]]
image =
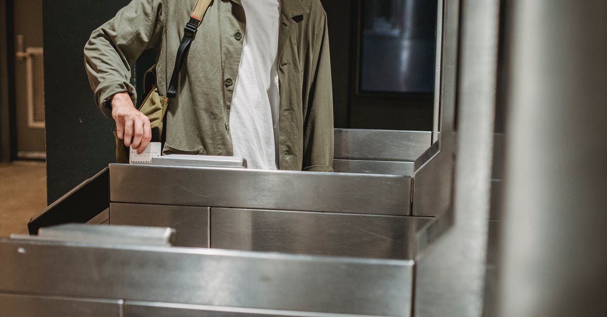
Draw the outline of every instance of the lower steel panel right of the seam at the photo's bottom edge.
[[[361,315],[293,312],[290,310],[271,310],[259,308],[219,307],[208,305],[170,304],[161,302],[125,302],[125,317],[232,317],[232,316],[296,316],[296,317],[355,317]],[[365,315],[368,316],[368,315]]]

